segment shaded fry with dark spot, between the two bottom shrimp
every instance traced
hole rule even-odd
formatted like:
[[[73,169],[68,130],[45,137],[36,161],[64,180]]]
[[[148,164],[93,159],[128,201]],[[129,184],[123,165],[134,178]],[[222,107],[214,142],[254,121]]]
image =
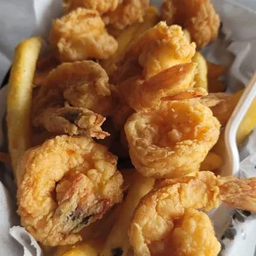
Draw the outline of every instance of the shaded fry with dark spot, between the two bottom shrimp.
[[[101,256],[126,256],[130,249],[128,229],[130,220],[140,198],[154,187],[154,178],[145,178],[135,173],[134,183],[130,186],[120,217],[113,226],[101,252]]]

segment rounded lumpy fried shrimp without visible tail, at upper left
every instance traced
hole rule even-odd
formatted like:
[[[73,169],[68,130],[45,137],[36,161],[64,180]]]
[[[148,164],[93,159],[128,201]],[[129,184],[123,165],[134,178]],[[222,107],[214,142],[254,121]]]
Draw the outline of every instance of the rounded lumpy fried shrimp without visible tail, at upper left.
[[[118,47],[99,13],[84,8],[53,21],[49,40],[61,62],[107,59]]]

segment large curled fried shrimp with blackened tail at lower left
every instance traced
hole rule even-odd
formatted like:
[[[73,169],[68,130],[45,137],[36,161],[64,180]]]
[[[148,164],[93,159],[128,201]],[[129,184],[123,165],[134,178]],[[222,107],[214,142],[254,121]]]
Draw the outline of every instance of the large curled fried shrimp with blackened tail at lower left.
[[[18,164],[21,224],[45,245],[74,244],[85,225],[122,199],[117,158],[87,137],[57,136]]]

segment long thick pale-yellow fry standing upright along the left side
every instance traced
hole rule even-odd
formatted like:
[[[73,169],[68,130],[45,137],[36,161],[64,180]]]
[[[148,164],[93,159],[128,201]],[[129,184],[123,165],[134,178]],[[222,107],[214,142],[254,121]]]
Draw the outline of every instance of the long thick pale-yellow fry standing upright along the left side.
[[[12,63],[7,95],[7,129],[15,176],[18,159],[31,145],[32,80],[40,47],[40,37],[22,41]]]

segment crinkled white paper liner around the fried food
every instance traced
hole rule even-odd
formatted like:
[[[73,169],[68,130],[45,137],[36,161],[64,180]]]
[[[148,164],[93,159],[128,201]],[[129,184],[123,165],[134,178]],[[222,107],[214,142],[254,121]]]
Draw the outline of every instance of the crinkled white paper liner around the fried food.
[[[157,7],[160,6],[160,2],[159,0],[152,1]],[[212,0],[212,2],[220,14],[224,34],[220,34],[219,39],[213,45],[206,47],[204,55],[206,59],[213,62],[231,64],[225,83],[228,84],[231,92],[236,92],[246,85],[256,69],[256,13],[234,4],[238,0]],[[256,10],[254,0],[240,0],[239,2],[255,7]],[[60,6],[60,0],[1,1],[0,33],[5,36],[0,37],[0,83],[10,67],[13,49],[17,43],[30,35],[46,36],[52,18],[58,17],[61,13]],[[12,15],[10,15],[11,12]],[[6,88],[0,91],[0,120],[6,109],[6,93]],[[3,145],[4,136],[0,129],[0,147]],[[240,163],[240,177],[256,176],[256,154],[254,152],[256,152],[255,131],[240,149],[240,157],[243,159]],[[0,255],[41,256],[42,251],[36,240],[24,228],[17,226],[17,215],[12,207],[16,201],[15,189],[8,177],[9,175],[5,175],[1,178],[8,191],[0,182]],[[254,215],[244,216],[241,211],[234,211],[223,205],[217,211],[210,212],[209,216],[214,221],[217,237],[221,244],[224,244],[221,255],[254,255],[256,244]],[[239,216],[239,219],[235,217],[233,220],[234,216]],[[8,234],[9,229],[12,237]],[[232,232],[236,233],[234,239],[230,239]]]

